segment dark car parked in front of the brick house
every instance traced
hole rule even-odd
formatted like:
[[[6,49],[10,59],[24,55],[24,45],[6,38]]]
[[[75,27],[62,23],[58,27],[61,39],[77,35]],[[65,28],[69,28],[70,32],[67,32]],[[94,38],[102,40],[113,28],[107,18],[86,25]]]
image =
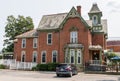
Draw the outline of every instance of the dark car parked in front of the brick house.
[[[77,67],[74,64],[59,64],[56,67],[56,75],[69,75],[72,77],[72,75],[77,75]]]

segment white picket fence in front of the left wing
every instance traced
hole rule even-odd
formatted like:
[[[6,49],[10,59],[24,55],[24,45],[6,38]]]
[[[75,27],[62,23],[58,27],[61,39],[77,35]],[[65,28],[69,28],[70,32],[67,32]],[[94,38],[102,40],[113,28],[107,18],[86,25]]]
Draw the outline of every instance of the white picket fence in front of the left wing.
[[[31,70],[32,67],[35,67],[37,63],[33,62],[20,62],[15,59],[1,59],[0,64],[6,65],[9,69],[23,69],[23,70]]]

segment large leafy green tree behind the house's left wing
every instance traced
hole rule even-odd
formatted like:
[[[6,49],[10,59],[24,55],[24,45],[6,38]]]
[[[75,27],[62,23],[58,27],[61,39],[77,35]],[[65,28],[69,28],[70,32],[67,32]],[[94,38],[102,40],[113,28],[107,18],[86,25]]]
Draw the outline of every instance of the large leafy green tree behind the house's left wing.
[[[15,18],[13,15],[8,16],[4,35],[6,39],[4,40],[2,52],[12,52],[15,37],[33,28],[34,24],[31,17],[19,15],[18,18]]]

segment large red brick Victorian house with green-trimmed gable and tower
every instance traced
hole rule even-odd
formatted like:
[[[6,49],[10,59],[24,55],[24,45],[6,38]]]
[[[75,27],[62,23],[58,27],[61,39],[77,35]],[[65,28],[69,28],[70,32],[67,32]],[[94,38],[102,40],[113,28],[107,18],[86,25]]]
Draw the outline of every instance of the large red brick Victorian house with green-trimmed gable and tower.
[[[89,20],[81,16],[81,6],[68,13],[44,15],[37,29],[23,33],[14,42],[14,57],[21,62],[74,63],[103,60],[107,20],[93,4]]]

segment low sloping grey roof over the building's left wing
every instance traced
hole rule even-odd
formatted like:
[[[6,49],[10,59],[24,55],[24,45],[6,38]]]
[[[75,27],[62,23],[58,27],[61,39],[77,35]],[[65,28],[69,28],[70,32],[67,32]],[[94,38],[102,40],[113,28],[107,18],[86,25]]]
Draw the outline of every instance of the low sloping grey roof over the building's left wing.
[[[16,38],[30,38],[30,37],[38,37],[38,32],[36,29],[30,30],[28,32],[16,36]]]

